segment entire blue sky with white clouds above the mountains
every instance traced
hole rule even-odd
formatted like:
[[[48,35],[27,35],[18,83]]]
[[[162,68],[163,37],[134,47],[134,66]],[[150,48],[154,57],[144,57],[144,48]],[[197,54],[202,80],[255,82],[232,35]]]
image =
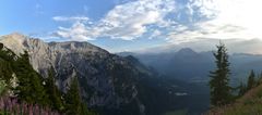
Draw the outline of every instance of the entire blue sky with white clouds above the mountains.
[[[249,41],[257,48],[248,49],[261,53],[261,0],[1,0],[0,35],[16,31],[45,41],[87,41],[110,52],[174,46],[198,50],[218,40],[246,49],[240,42]]]

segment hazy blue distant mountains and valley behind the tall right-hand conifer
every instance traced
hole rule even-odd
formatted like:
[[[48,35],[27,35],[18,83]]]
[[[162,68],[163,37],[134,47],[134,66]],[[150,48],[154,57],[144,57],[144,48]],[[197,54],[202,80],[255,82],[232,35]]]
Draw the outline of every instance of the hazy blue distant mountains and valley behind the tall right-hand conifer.
[[[188,82],[206,84],[210,71],[215,68],[213,51],[196,52],[190,48],[157,53],[121,52],[119,55],[133,55],[146,66],[167,77]],[[262,71],[262,55],[248,53],[229,54],[231,84],[246,81],[251,69]]]

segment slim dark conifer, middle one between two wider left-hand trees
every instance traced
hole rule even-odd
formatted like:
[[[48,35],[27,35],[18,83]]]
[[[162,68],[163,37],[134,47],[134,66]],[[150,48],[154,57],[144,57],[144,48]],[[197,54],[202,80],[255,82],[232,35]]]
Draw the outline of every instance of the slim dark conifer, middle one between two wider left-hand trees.
[[[57,111],[62,111],[63,110],[63,103],[61,100],[61,92],[59,91],[59,89],[57,88],[56,84],[55,84],[55,69],[53,67],[48,69],[48,77],[46,79],[46,91],[49,94],[49,100],[50,100],[50,106],[53,110]]]

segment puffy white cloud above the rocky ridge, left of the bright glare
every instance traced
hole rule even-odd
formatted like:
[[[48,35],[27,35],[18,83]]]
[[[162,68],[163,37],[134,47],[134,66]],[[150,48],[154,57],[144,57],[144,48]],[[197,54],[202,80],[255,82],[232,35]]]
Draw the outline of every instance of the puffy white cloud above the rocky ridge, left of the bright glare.
[[[138,0],[124,4],[116,5],[104,18],[93,25],[85,25],[86,33],[82,36],[87,38],[109,37],[112,39],[132,40],[148,31],[148,25],[167,27],[171,22],[165,21],[168,13],[175,11],[174,0]],[[55,21],[88,21],[87,17],[63,17],[55,16]],[[72,35],[70,30],[75,25],[63,30],[59,28],[57,35]],[[62,31],[62,33],[61,33]],[[80,34],[80,33],[79,33]],[[68,37],[68,36],[61,36]],[[73,37],[73,36],[72,36]]]

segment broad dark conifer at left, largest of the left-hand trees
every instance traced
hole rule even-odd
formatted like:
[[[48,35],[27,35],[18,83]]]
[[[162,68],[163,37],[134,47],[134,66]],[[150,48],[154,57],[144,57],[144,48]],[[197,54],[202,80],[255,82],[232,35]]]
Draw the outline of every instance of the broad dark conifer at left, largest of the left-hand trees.
[[[43,85],[41,76],[29,64],[28,53],[25,52],[22,54],[13,67],[19,80],[19,86],[15,89],[17,98],[21,101],[47,106],[49,100]]]

